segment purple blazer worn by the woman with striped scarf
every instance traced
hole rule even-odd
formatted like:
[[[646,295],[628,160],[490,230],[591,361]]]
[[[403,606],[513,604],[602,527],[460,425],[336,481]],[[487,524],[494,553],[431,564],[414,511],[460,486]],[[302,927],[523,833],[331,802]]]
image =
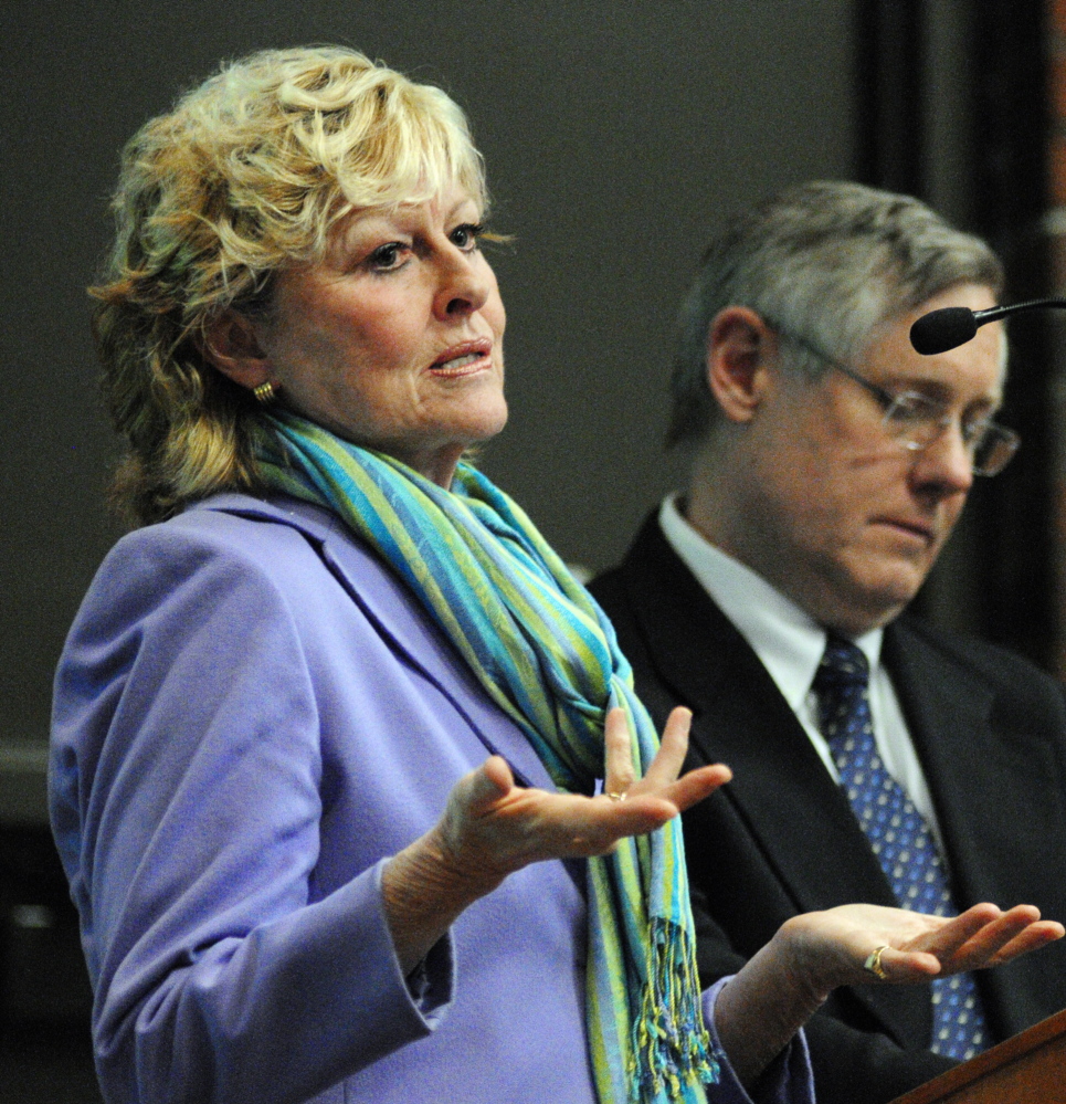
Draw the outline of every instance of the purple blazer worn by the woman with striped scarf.
[[[105,1098],[593,1104],[582,863],[513,874],[416,981],[392,949],[383,862],[494,753],[551,788],[328,512],[221,495],[120,540],[60,662],[50,768]],[[802,1042],[779,1065],[771,1098],[809,1100]],[[725,1063],[711,1098],[748,1098]]]

